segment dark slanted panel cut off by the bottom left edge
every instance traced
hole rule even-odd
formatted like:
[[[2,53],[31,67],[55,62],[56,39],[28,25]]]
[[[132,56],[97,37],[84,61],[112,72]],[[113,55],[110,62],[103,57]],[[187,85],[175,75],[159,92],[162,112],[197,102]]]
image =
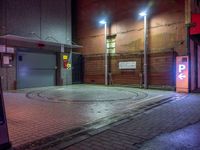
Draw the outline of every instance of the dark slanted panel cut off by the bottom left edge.
[[[9,136],[8,136],[8,127],[5,114],[5,106],[3,100],[3,91],[1,86],[1,77],[0,77],[0,150],[8,149],[11,147]]]

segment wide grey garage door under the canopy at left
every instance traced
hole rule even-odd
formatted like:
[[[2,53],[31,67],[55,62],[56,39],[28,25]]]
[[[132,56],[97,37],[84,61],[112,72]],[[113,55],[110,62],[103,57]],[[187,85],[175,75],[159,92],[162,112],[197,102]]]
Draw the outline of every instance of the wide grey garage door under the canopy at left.
[[[17,88],[53,86],[56,81],[56,55],[17,53]]]

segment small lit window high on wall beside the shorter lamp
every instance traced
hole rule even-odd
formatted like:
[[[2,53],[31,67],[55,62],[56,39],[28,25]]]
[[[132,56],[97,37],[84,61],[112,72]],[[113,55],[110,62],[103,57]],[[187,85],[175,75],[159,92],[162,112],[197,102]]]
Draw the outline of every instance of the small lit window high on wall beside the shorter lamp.
[[[107,50],[108,53],[115,53],[115,43],[116,43],[116,35],[107,36]]]

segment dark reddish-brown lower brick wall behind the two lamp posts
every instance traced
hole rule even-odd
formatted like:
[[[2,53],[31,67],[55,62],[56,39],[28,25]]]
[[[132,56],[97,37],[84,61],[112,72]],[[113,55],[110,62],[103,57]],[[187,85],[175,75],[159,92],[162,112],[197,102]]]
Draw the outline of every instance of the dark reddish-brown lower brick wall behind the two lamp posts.
[[[175,53],[152,53],[148,56],[148,82],[149,85],[174,86]],[[134,70],[120,70],[119,62],[136,61]],[[85,55],[84,82],[104,84],[104,55]],[[140,85],[143,73],[142,53],[123,53],[109,56],[109,70],[112,74],[112,84]]]

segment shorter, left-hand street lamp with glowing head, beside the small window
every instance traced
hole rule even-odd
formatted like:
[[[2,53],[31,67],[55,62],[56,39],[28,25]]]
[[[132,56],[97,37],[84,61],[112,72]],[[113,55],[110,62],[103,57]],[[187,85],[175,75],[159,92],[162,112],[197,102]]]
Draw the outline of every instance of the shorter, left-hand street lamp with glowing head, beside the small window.
[[[100,24],[104,25],[104,46],[105,46],[105,85],[108,85],[108,51],[107,51],[107,22],[106,20],[99,21]]]

